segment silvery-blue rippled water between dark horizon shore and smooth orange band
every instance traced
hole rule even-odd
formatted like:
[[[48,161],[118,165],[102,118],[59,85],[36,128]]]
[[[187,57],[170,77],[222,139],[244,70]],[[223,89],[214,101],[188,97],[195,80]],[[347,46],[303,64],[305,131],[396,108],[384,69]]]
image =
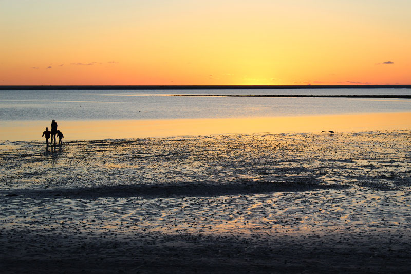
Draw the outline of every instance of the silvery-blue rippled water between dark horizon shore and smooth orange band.
[[[249,118],[410,112],[410,99],[187,97],[173,94],[410,95],[410,89],[0,91],[0,121]]]

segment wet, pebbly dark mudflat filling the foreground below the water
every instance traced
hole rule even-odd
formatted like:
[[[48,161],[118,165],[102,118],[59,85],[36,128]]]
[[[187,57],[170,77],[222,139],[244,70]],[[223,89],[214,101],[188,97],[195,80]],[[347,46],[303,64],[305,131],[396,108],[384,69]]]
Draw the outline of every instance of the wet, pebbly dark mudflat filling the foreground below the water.
[[[411,132],[0,145],[4,272],[406,272]]]

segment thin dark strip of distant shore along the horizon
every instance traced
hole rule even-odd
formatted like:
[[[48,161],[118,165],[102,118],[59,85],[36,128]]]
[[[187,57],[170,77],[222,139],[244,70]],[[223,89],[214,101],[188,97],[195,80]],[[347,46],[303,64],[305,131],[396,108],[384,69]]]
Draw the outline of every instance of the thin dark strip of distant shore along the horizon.
[[[411,85],[0,85],[0,90],[178,90],[409,88]]]

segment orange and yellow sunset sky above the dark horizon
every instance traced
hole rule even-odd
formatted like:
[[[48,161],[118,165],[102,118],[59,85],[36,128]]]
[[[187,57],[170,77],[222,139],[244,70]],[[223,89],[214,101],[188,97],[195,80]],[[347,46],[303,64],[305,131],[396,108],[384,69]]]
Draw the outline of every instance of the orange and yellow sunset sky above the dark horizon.
[[[0,0],[0,85],[411,84],[409,0]]]

